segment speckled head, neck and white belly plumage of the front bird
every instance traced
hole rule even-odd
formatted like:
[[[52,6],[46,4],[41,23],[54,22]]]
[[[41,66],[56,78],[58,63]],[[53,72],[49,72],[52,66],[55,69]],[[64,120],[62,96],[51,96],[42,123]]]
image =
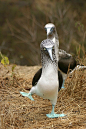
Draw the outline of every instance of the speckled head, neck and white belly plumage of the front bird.
[[[51,60],[47,49],[52,49],[53,61]],[[57,60],[55,56],[54,43],[47,39],[42,41],[41,49],[41,62],[42,74],[37,84],[35,85],[35,93],[45,99],[49,99],[52,104],[56,104],[57,94],[59,88]],[[32,91],[31,91],[32,92]]]

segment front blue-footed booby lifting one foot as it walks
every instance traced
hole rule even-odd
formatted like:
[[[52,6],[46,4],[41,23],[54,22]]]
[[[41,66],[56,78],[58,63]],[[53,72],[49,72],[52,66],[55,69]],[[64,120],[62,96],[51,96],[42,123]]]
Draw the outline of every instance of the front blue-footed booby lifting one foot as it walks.
[[[54,108],[57,102],[58,89],[59,89],[59,80],[58,80],[58,58],[55,54],[55,44],[50,39],[45,39],[40,44],[41,50],[41,74],[35,74],[35,78],[32,81],[32,88],[29,93],[21,92],[23,96],[28,97],[33,100],[32,95],[36,94],[44,99],[49,99],[52,104],[52,111],[49,114],[46,114],[48,118],[64,117],[65,114],[56,114]],[[60,80],[62,81],[62,80]]]

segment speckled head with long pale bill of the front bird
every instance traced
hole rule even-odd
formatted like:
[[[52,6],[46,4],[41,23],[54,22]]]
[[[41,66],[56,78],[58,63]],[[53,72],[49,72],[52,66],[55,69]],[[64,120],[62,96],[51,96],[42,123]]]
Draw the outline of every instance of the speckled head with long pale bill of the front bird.
[[[41,42],[40,48],[43,51],[43,53],[46,54],[46,56],[49,56],[50,59],[53,61],[53,53],[55,49],[55,44],[50,39],[45,39]]]

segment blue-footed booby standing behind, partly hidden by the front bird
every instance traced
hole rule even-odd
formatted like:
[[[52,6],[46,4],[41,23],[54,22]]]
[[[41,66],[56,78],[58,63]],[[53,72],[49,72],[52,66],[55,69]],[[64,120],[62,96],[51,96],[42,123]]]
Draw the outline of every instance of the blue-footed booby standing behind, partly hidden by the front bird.
[[[57,51],[59,47],[59,38],[55,25],[53,23],[48,23],[44,26],[44,29],[47,33],[47,39],[51,39],[55,43],[55,53],[56,56],[59,55],[58,69],[63,76],[62,88],[64,88],[64,83],[67,78],[68,70],[74,70],[74,68],[77,66],[77,62],[74,57],[66,51],[62,49],[59,49],[59,51]]]

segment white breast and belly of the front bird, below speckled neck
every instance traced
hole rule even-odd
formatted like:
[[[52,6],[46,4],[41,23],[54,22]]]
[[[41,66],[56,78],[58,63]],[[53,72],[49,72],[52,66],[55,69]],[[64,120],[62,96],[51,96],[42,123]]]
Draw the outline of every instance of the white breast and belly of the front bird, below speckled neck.
[[[37,83],[36,94],[45,99],[53,100],[58,94],[58,74],[50,66],[45,71]]]

